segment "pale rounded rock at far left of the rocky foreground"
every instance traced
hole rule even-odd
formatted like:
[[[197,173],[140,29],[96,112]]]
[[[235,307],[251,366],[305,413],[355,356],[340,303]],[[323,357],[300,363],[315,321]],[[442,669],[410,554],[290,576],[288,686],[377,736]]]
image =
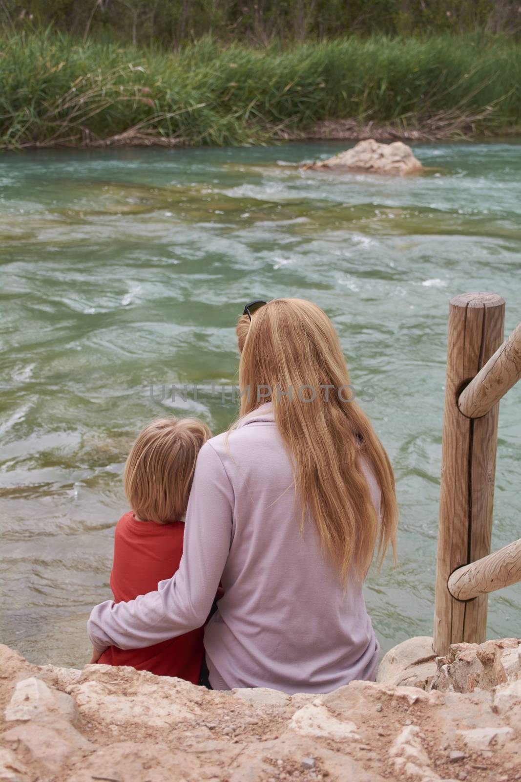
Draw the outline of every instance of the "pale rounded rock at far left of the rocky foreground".
[[[7,722],[14,720],[37,721],[66,719],[76,723],[78,711],[70,695],[58,690],[50,690],[41,679],[30,676],[18,682],[9,705],[5,709]]]

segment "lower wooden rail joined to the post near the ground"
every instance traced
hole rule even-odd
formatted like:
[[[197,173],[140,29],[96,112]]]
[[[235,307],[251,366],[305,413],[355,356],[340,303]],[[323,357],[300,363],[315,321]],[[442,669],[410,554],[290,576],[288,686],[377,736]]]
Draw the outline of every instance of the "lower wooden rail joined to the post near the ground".
[[[456,600],[474,597],[521,581],[521,538],[452,573],[448,590]]]

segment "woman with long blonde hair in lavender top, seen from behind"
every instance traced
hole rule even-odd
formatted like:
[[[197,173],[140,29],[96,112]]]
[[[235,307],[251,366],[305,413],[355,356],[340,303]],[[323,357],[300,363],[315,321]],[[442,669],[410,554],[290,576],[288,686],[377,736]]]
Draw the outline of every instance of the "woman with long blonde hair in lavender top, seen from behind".
[[[394,550],[387,454],[351,399],[334,326],[301,299],[255,302],[237,324],[241,411],[199,453],[184,556],[172,579],[93,610],[95,649],[205,628],[209,685],[329,692],[373,679],[379,647],[362,595],[375,550]]]

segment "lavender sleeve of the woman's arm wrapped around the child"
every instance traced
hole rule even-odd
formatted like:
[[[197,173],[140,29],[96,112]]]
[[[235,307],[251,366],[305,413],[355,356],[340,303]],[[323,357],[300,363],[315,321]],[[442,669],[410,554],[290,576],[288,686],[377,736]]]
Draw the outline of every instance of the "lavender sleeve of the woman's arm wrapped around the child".
[[[179,570],[155,592],[95,606],[87,626],[93,646],[136,649],[201,627],[230,551],[233,508],[227,473],[212,444],[205,443],[195,465]]]

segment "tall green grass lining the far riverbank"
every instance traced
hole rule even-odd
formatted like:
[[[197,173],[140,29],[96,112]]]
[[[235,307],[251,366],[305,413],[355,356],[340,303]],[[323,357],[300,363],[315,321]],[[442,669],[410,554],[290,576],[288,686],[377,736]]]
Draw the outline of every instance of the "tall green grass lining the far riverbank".
[[[51,32],[0,38],[0,148],[242,145],[321,120],[433,137],[521,129],[521,46],[483,35],[348,38],[175,54]]]

